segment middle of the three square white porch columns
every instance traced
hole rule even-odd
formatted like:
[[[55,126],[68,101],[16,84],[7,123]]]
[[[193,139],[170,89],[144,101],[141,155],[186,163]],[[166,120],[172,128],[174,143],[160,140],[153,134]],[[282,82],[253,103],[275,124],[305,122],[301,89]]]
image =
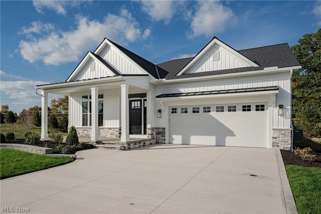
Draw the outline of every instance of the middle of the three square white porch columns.
[[[91,140],[98,139],[98,87],[91,87]]]

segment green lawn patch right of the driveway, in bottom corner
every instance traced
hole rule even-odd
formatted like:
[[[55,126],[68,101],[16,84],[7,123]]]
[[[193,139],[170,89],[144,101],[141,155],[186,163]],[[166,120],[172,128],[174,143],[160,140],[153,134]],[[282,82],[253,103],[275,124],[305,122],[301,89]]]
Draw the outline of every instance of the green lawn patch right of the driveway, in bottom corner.
[[[285,166],[299,214],[321,213],[321,168]]]

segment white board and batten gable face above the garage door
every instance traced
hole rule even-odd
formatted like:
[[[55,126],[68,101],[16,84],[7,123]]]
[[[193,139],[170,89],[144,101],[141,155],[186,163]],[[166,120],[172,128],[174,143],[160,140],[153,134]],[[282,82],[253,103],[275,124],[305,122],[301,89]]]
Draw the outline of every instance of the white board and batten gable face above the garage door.
[[[247,65],[237,56],[228,50],[215,44],[210,50],[205,52],[200,59],[187,69],[185,73],[197,73],[206,71],[218,71],[224,69],[242,68]]]

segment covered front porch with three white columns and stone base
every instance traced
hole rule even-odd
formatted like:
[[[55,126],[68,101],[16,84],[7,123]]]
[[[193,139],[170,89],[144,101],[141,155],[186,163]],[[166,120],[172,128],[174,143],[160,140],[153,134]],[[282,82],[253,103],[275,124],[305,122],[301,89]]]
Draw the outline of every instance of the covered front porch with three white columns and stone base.
[[[135,143],[155,140],[151,127],[156,112],[153,88],[149,87],[148,78],[147,75],[116,76],[37,86],[36,93],[42,97],[41,138],[48,138],[48,94],[59,94],[69,96],[68,126],[76,127],[81,141],[97,145],[113,142],[128,149]],[[131,106],[134,106],[132,111],[137,108],[133,101],[140,105],[140,118],[131,115]],[[140,133],[137,130],[133,132],[136,128],[133,124],[141,126],[138,129]],[[102,131],[110,129],[116,130],[112,138]],[[86,135],[80,133],[83,130]]]

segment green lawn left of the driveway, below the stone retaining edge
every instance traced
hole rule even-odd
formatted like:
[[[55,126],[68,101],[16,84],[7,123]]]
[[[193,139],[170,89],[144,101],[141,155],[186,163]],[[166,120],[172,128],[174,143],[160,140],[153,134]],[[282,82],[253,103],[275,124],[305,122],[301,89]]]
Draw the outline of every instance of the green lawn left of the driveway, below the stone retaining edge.
[[[71,157],[33,154],[15,149],[0,149],[0,179],[39,171],[72,162]]]

